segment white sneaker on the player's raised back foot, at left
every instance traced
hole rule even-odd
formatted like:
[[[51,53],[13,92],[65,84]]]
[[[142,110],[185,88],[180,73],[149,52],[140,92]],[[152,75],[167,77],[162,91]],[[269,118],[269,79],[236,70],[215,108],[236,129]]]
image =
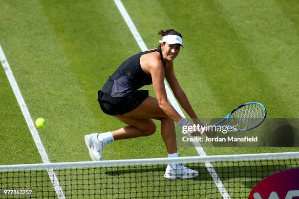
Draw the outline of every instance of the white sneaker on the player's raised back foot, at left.
[[[102,151],[106,145],[98,139],[98,135],[98,133],[92,133],[84,137],[89,156],[93,161],[102,160]]]

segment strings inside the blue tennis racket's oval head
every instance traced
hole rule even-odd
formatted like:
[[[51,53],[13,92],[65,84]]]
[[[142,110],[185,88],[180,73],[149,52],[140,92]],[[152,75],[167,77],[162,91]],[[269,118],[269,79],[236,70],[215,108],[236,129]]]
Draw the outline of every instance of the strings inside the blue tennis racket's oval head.
[[[236,110],[229,118],[229,124],[238,130],[250,129],[264,119],[265,110],[260,104],[248,104]]]

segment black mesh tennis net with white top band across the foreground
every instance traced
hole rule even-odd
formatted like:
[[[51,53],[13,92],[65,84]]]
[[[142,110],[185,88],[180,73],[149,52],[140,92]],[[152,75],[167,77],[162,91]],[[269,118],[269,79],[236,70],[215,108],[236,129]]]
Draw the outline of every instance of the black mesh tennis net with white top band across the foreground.
[[[166,179],[168,163],[197,170]],[[0,198],[248,198],[272,173],[299,167],[299,152],[0,166]]]

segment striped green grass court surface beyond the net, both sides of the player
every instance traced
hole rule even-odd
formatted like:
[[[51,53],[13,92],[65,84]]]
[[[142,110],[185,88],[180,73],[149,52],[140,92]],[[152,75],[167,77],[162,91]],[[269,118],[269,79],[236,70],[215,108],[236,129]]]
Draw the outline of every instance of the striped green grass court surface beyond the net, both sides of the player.
[[[186,46],[174,61],[180,85],[199,118],[222,118],[248,101],[268,118],[299,118],[299,4],[296,0],[124,0],[149,48],[174,28]],[[51,162],[88,161],[84,135],[123,127],[105,115],[97,91],[140,51],[113,1],[0,2],[0,45]],[[146,86],[155,96],[151,86]],[[21,109],[0,69],[0,164],[40,163]],[[157,131],[107,145],[104,159],[166,157]],[[299,148],[205,148],[207,155],[298,151]],[[197,156],[179,147],[180,156]]]

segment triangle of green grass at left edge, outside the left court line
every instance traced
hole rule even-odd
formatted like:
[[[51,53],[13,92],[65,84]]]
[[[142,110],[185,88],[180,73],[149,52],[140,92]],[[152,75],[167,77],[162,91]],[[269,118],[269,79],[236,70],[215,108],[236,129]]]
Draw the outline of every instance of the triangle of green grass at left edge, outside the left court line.
[[[0,107],[1,164],[41,163],[41,156],[4,70],[0,70]]]

